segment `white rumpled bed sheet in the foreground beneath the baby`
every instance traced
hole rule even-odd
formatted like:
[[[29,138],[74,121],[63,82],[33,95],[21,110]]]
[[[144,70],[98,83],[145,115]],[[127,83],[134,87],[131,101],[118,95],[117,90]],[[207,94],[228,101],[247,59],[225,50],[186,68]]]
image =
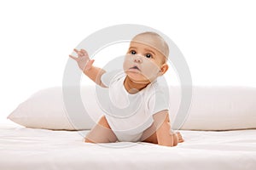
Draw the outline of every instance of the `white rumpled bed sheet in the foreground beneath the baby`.
[[[180,132],[185,142],[176,147],[102,145],[84,143],[78,132],[4,125],[0,126],[0,169],[256,169],[256,129]]]

